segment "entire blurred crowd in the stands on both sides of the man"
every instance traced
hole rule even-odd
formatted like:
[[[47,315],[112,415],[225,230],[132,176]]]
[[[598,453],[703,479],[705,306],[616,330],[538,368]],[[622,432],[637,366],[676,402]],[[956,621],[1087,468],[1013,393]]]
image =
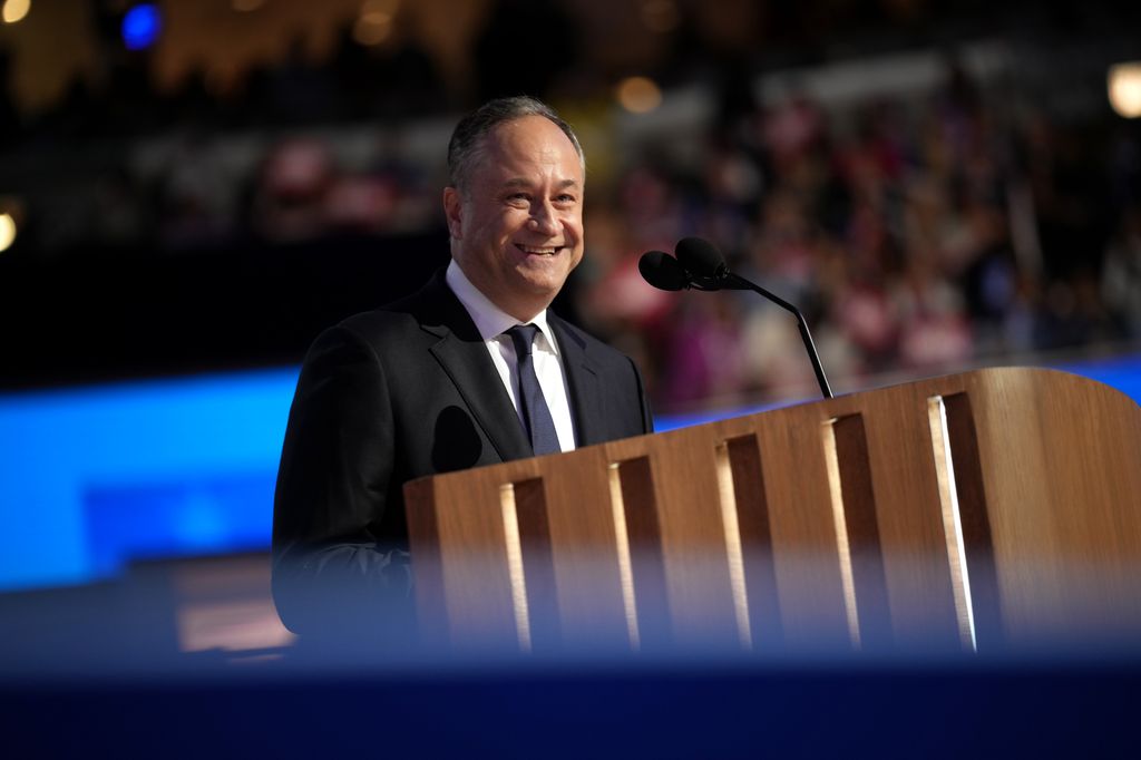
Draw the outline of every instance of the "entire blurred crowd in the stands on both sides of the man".
[[[687,235],[800,306],[837,391],[884,372],[1141,339],[1135,124],[1108,110],[1053,119],[954,63],[933,91],[843,108],[795,90],[760,97],[723,73],[706,80],[696,126],[648,137],[616,136],[609,100],[552,97],[584,136],[591,183],[588,257],[564,307],[639,359],[659,410],[815,393],[787,313],[747,292],[641,281],[639,256]],[[455,114],[424,56],[294,57],[254,74],[233,102],[201,81],[156,99],[129,76],[102,103],[72,92],[5,154],[22,183],[16,253],[189,254],[442,229]],[[379,80],[403,89],[364,97]],[[149,118],[132,111],[144,107]]]

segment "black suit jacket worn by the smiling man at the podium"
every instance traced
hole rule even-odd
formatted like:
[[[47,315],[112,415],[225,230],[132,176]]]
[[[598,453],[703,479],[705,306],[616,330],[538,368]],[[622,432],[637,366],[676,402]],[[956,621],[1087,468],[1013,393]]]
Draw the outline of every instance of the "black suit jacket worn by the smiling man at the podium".
[[[578,446],[653,422],[633,362],[558,318]],[[403,486],[532,455],[487,348],[443,272],[326,330],[305,358],[274,500],[274,598],[288,626],[407,596]],[[371,613],[365,613],[371,614]]]

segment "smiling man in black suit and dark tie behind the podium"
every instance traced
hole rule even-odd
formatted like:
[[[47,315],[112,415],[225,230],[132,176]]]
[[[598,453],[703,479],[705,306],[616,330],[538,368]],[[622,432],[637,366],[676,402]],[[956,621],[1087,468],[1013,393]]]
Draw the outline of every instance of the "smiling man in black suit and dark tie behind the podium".
[[[447,157],[447,269],[322,333],[301,369],[273,539],[296,632],[404,614],[406,482],[652,431],[634,364],[548,310],[583,257],[574,131],[502,98],[456,126]]]

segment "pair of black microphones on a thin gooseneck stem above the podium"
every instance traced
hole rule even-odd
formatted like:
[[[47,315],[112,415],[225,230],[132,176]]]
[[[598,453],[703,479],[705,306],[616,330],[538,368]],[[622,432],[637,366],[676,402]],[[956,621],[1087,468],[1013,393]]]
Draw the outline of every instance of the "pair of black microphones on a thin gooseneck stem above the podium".
[[[812,371],[816,373],[816,381],[820,386],[820,393],[824,394],[825,398],[832,398],[832,389],[828,387],[828,379],[824,375],[820,357],[816,353],[812,333],[809,332],[808,322],[804,321],[804,315],[800,313],[800,309],[779,296],[729,272],[721,251],[717,250],[717,246],[707,240],[682,237],[678,241],[674,251],[678,253],[677,261],[662,251],[650,251],[642,256],[641,261],[638,262],[638,268],[641,270],[646,282],[661,290],[681,290],[681,288],[689,288],[690,285],[696,285],[698,290],[751,290],[769,299],[786,312],[791,312],[796,317],[796,328],[800,330],[800,337],[804,341],[804,350],[808,351],[808,358],[812,362]],[[653,257],[654,261],[659,262],[662,269],[677,270],[686,284],[677,288],[663,288],[657,284],[657,282],[647,276],[646,269],[642,268],[642,262],[648,257]],[[673,261],[673,264],[667,264],[670,261]]]

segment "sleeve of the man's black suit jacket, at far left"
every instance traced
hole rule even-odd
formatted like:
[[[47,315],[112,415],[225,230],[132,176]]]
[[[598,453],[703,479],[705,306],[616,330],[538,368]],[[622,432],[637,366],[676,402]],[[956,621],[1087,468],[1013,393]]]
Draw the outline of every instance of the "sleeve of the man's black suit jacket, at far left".
[[[408,624],[407,551],[378,540],[386,510],[400,509],[394,439],[375,353],[346,328],[324,332],[301,367],[274,496],[273,592],[290,630],[374,637]]]

